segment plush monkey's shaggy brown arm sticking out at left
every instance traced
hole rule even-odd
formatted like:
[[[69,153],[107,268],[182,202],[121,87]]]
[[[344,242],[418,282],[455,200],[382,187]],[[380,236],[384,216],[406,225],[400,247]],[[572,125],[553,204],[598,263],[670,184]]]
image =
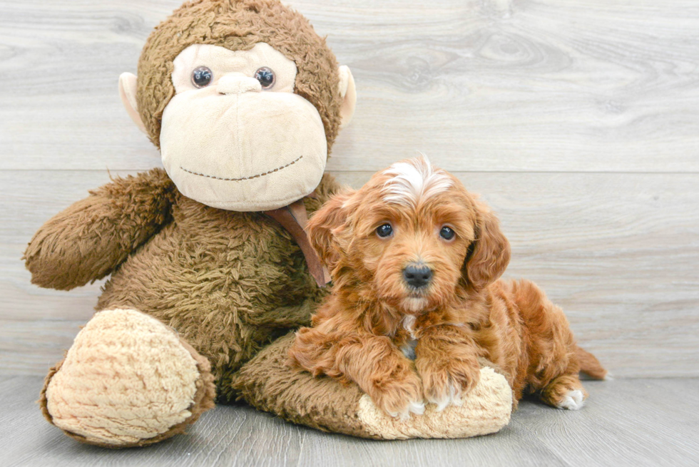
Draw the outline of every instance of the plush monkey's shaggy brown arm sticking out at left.
[[[91,191],[34,234],[23,258],[31,282],[68,290],[105,277],[170,222],[174,193],[162,169]]]

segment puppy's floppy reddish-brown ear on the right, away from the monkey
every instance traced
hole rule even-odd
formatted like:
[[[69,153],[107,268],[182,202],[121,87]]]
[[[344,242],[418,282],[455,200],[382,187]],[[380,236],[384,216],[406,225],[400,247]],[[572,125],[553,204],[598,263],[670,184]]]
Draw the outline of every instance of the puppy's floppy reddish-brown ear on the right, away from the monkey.
[[[464,262],[464,277],[479,290],[495,282],[510,262],[510,242],[500,230],[500,222],[486,205],[476,201],[476,240]]]

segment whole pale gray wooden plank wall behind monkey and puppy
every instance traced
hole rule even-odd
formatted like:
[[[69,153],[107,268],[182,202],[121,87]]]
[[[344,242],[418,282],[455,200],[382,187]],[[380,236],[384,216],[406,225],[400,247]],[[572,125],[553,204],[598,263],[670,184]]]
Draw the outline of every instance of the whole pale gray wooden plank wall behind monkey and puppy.
[[[179,3],[0,0],[1,374],[44,374],[91,316],[99,284],[39,289],[19,258],[108,170],[160,164],[116,83]],[[699,376],[696,1],[291,4],[357,81],[332,173],[361,185],[424,151],[613,374]]]

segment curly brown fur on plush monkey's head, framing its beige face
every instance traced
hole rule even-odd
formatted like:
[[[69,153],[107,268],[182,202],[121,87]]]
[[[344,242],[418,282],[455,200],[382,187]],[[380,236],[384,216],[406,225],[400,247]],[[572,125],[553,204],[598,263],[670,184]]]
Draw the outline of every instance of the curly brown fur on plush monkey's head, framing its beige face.
[[[295,93],[317,108],[328,153],[340,128],[335,55],[301,14],[270,0],[195,0],[150,34],[138,61],[138,110],[150,140],[160,147],[160,118],[175,95],[173,59],[195,43],[249,50],[265,42],[297,65]]]

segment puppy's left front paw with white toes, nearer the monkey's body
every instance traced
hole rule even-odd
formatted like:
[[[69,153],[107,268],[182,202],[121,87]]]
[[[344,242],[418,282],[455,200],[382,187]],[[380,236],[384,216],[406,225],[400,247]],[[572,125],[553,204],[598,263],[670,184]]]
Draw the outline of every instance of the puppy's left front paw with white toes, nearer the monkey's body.
[[[390,416],[406,420],[410,414],[422,415],[422,384],[412,372],[396,379],[376,381],[369,396],[379,409]]]

